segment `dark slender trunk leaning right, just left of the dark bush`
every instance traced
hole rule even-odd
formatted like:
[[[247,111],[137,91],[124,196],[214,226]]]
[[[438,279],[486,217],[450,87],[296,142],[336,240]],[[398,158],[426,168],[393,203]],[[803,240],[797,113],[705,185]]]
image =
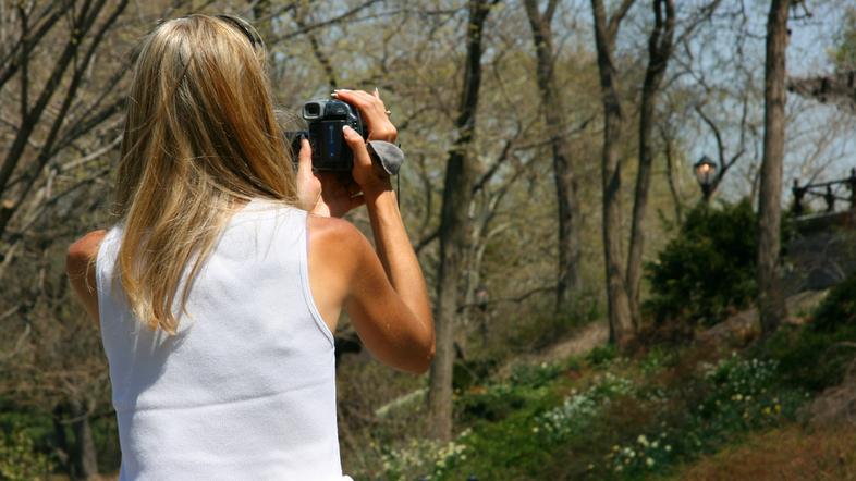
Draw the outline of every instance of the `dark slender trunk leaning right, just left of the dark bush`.
[[[663,18],[663,5],[665,18]],[[675,27],[674,0],[653,1],[655,25],[648,38],[648,67],[643,83],[641,109],[639,111],[639,170],[636,174],[636,196],[633,202],[631,248],[627,257],[627,297],[636,329],[639,328],[639,284],[641,280],[641,256],[645,246],[645,217],[648,210],[648,190],[651,186],[651,137],[653,133],[657,96],[672,55],[672,38]]]

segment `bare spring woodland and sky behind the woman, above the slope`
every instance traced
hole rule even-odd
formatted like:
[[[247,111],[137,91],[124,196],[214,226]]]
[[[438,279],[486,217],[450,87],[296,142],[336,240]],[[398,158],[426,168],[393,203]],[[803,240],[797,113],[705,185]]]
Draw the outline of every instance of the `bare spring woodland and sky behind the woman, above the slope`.
[[[106,358],[65,254],[114,222],[135,48],[192,12],[260,32],[283,128],[342,87],[377,87],[399,128],[437,358],[425,377],[395,372],[342,324],[346,471],[383,472],[381,440],[455,439],[461,390],[588,322],[620,353],[650,344],[662,322],[644,307],[646,266],[699,206],[757,207],[753,275],[774,332],[783,182],[854,165],[853,103],[784,94],[856,67],[845,0],[0,0],[0,406],[5,445],[54,472],[118,468]],[[784,97],[776,119],[769,106]],[[693,165],[705,156],[716,176],[702,196]],[[350,219],[370,233],[364,212]],[[396,403],[416,407],[390,419]]]

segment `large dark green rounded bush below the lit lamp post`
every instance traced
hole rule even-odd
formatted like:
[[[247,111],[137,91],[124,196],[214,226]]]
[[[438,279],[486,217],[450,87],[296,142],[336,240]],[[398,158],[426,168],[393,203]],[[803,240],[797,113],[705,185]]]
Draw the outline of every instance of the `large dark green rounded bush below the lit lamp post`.
[[[681,319],[710,325],[746,307],[758,291],[756,231],[748,200],[689,211],[677,235],[645,266],[651,287],[645,312],[658,323]]]

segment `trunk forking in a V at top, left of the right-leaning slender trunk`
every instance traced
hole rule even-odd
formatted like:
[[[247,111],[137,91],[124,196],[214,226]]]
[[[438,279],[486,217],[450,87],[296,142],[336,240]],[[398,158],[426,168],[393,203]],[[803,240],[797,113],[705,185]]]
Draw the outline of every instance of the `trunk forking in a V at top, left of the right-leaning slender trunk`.
[[[622,18],[633,0],[624,0],[607,20],[603,0],[591,0],[595,17],[595,44],[598,52],[600,90],[603,102],[603,151],[601,176],[603,188],[603,260],[607,271],[607,304],[610,342],[626,347],[636,336],[625,284],[625,261],[621,235],[621,163],[619,143],[624,126],[624,113],[619,97],[615,65],[612,55]]]

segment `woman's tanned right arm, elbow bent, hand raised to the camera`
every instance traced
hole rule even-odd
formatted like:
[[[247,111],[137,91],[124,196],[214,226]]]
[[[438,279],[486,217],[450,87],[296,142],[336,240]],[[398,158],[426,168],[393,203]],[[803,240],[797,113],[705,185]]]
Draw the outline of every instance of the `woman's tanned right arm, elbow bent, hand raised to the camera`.
[[[377,92],[338,90],[335,96],[360,110],[370,139],[395,141],[395,127]],[[319,215],[342,215],[365,203],[377,252],[348,222],[310,217],[309,276],[311,291],[317,293],[314,297],[321,316],[332,320],[327,322],[332,325],[331,331],[340,307],[344,306],[372,355],[392,367],[425,372],[435,355],[425,278],[404,229],[389,174],[372,164],[359,134],[351,128],[344,128],[343,134],[354,153],[352,178],[362,195],[353,196],[348,188],[333,188],[342,186],[321,177],[322,195],[310,197],[318,197],[317,206],[325,208],[311,210]],[[301,150],[301,169],[305,173],[311,171],[308,143]],[[307,192],[318,188],[303,184]]]

